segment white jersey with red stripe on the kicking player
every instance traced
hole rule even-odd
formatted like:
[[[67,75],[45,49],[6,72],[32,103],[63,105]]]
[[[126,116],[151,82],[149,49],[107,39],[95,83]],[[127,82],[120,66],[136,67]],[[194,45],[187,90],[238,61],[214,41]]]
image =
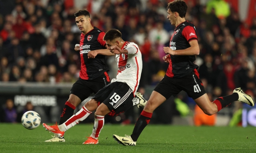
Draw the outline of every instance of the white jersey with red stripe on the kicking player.
[[[116,55],[118,73],[116,78],[112,79],[111,82],[124,82],[130,86],[133,94],[135,94],[140,83],[142,72],[141,52],[138,45],[128,41],[124,43],[121,49],[126,49],[128,54]]]

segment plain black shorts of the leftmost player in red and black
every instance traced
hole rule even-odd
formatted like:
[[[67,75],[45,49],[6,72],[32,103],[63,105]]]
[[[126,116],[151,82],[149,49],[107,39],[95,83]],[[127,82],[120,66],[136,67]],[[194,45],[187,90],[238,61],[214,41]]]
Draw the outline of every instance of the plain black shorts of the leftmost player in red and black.
[[[73,84],[70,94],[74,94],[80,98],[81,101],[84,101],[92,93],[96,94],[100,89],[104,88],[110,83],[110,79],[106,73],[101,75],[94,80],[84,80],[78,78],[78,80]]]

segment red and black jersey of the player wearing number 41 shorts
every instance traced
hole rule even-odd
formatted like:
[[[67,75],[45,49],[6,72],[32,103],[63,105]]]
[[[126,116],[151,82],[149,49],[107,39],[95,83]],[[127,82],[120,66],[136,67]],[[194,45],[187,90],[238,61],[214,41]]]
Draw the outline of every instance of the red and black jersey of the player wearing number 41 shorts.
[[[190,46],[189,42],[197,40],[196,28],[191,22],[185,21],[179,24],[170,40],[170,49],[183,50]],[[170,63],[166,75],[171,78],[181,78],[188,75],[198,66],[193,62],[196,60],[194,55],[170,55]]]

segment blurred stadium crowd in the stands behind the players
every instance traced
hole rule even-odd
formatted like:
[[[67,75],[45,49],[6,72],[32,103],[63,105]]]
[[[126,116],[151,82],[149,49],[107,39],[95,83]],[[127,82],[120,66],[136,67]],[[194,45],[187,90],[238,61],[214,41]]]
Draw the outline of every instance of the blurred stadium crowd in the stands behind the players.
[[[155,86],[168,68],[163,47],[169,46],[175,29],[166,18],[169,1],[89,0],[82,7],[90,11],[93,26],[105,32],[119,29],[124,40],[139,45],[140,89]],[[248,26],[232,8],[222,15],[210,2],[193,2],[187,3],[186,20],[196,28],[200,55],[195,63],[206,92],[214,99],[241,87],[255,95],[256,18]],[[81,34],[74,20],[77,10],[67,0],[49,0],[46,6],[41,0],[1,0],[0,81],[75,82],[80,71],[80,56],[74,51]],[[116,69],[110,58],[108,64],[110,70]]]

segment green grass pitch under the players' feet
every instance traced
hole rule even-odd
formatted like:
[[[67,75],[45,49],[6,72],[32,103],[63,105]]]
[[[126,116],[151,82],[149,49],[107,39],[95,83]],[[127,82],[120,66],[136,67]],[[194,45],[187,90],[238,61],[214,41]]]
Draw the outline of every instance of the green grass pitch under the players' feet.
[[[106,124],[98,145],[82,145],[92,124],[80,124],[65,133],[66,142],[46,143],[51,133],[40,127],[0,123],[0,153],[255,153],[256,128],[148,125],[136,146],[123,146],[113,134],[131,134],[134,125]]]

